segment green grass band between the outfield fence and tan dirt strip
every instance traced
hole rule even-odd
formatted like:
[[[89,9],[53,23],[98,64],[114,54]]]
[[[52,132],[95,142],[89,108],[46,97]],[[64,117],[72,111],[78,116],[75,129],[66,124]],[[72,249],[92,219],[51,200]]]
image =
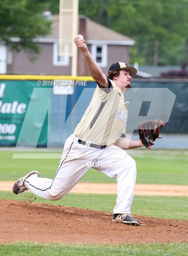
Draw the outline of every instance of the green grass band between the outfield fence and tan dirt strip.
[[[147,184],[187,184],[188,154],[186,150],[131,150],[127,151],[137,162],[137,183]],[[28,156],[30,159],[13,159]],[[26,155],[25,155],[26,154]],[[39,157],[39,159],[32,159]],[[47,159],[40,159],[41,156]],[[59,166],[61,153],[49,151],[5,151],[0,152],[0,179],[17,180],[31,170],[38,170],[42,177],[54,177]],[[54,157],[55,159],[49,159]],[[115,180],[90,169],[82,182],[114,183]]]

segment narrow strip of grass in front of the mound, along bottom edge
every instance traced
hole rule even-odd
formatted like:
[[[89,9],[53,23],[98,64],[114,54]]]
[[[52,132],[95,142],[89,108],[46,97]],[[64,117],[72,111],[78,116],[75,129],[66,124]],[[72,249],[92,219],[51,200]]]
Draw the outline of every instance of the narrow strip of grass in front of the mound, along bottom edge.
[[[2,256],[187,256],[187,243],[164,244],[1,244]]]

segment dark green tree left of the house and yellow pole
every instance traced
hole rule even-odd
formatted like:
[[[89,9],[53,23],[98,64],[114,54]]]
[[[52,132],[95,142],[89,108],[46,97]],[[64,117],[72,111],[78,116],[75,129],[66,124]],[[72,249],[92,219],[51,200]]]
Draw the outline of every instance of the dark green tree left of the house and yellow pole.
[[[0,1],[0,41],[13,49],[39,52],[33,39],[50,33],[51,21],[43,18],[45,3],[38,0]],[[13,42],[11,38],[19,38]]]

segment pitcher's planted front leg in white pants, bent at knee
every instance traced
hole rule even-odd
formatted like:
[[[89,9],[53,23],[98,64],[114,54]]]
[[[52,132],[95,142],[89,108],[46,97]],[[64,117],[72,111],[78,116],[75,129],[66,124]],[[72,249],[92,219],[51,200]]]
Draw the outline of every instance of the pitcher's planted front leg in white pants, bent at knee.
[[[103,150],[98,163],[100,166],[95,169],[117,180],[114,213],[129,214],[137,176],[136,162],[123,149],[113,145]]]

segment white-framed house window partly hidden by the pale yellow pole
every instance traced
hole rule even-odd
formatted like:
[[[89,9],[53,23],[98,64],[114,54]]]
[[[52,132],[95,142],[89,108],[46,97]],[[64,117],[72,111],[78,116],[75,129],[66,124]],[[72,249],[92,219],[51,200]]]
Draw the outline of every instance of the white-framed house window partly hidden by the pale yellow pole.
[[[69,65],[69,45],[64,45],[64,56],[58,54],[58,43],[54,43],[53,47],[53,65],[68,66]]]

